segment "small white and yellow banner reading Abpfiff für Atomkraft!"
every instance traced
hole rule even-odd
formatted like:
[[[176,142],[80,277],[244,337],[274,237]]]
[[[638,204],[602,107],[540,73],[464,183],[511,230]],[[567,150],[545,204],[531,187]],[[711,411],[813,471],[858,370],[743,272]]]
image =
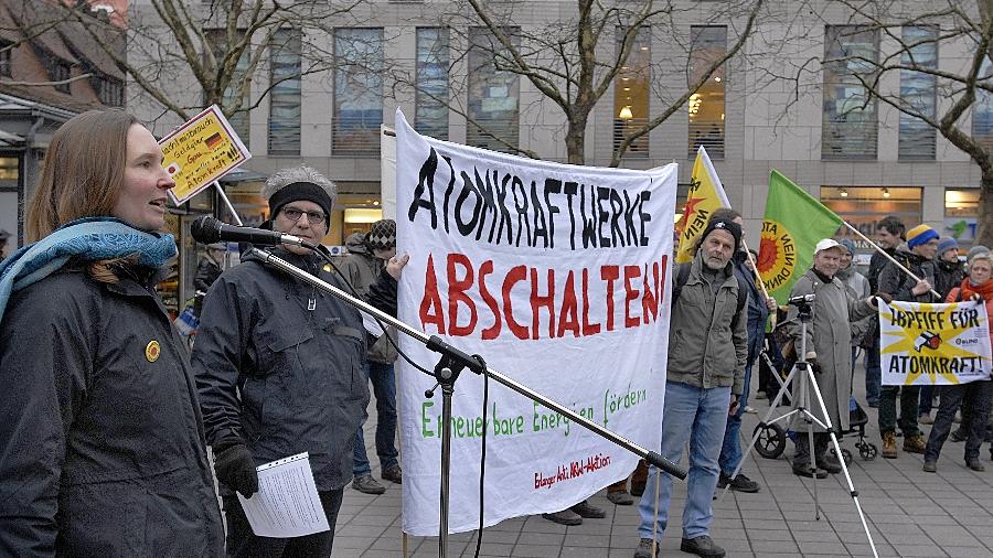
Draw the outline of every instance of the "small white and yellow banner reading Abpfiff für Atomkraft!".
[[[990,377],[990,323],[981,302],[879,305],[883,385],[951,385]]]

